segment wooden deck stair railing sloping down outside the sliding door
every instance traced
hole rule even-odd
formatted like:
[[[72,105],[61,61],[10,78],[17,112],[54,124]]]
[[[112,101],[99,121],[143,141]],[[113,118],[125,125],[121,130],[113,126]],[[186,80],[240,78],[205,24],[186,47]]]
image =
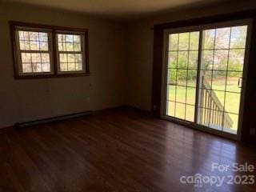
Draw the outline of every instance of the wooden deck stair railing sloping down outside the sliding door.
[[[214,90],[211,90],[209,82],[202,76],[201,89],[201,110],[199,114],[199,122],[202,125],[214,126],[216,129],[231,128],[233,121],[229,114],[226,114],[222,102],[219,101]]]

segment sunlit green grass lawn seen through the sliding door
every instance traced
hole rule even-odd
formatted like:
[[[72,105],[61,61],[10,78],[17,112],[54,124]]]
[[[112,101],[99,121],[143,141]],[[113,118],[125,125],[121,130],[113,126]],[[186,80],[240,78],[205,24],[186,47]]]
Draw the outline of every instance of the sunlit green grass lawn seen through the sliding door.
[[[190,82],[188,82],[190,84]],[[225,86],[226,85],[226,86]],[[218,79],[216,81],[213,81],[212,89],[214,90],[214,93],[218,97],[219,101],[222,103],[222,106],[225,105],[226,113],[230,115],[230,118],[233,121],[233,130],[238,129],[238,111],[239,111],[239,102],[240,102],[240,88],[238,88],[238,78],[230,78],[227,81]],[[229,93],[224,92],[232,91],[237,93]],[[176,95],[175,95],[176,93]],[[194,105],[195,105],[195,94],[196,90],[195,88],[190,87],[184,87],[184,86],[170,86],[169,87],[169,100],[170,101],[177,101],[182,103],[187,103],[189,105],[183,105],[176,102],[176,111],[175,111],[175,117],[186,119],[188,121],[193,122],[194,121]],[[168,106],[168,114],[170,116],[174,116],[174,102],[169,102]],[[186,111],[186,112],[185,112]],[[230,114],[234,113],[234,114]]]

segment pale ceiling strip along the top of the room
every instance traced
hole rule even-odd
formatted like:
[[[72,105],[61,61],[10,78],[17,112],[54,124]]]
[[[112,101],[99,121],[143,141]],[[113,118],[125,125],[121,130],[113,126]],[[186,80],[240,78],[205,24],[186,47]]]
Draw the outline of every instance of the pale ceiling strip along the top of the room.
[[[225,0],[8,0],[37,6],[94,14],[106,18],[131,20],[168,10],[206,6]]]

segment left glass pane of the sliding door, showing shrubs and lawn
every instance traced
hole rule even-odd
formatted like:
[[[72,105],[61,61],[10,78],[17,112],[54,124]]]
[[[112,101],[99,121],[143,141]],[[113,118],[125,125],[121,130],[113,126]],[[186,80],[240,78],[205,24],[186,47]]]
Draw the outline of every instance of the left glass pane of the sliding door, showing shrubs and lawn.
[[[166,115],[194,122],[199,31],[169,34]]]

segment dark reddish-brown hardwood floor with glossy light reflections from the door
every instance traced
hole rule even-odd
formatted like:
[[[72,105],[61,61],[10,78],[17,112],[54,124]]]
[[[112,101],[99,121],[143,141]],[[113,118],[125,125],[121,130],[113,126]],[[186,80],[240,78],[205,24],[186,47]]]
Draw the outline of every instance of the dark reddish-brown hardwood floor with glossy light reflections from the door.
[[[197,173],[237,174],[211,171],[213,162],[256,166],[252,147],[130,109],[11,130],[0,134],[0,145],[4,192],[255,191],[255,185],[180,182]]]

